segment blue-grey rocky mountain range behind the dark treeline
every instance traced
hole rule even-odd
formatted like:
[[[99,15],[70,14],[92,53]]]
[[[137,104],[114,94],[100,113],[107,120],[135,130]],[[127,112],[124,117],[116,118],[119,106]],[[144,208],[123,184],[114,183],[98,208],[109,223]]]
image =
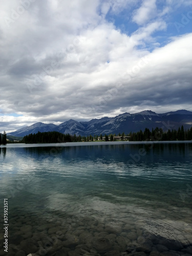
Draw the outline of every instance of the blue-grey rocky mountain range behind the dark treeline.
[[[140,113],[130,114],[124,113],[115,117],[103,117],[100,119],[92,119],[90,121],[75,121],[70,119],[59,125],[53,123],[34,123],[15,132],[9,133],[12,136],[25,136],[38,132],[56,131],[63,134],[76,135],[100,135],[100,134],[119,134],[144,131],[145,127],[162,128],[163,131],[168,129],[178,130],[181,125],[184,129],[190,129],[192,126],[192,112],[187,110],[178,110],[175,112],[167,112],[157,114],[151,110],[145,110]]]

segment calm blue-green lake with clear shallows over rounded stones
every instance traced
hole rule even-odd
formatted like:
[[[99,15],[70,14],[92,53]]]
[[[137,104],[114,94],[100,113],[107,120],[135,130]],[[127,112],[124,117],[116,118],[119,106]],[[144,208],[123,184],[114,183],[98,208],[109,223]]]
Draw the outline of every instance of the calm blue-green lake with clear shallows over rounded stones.
[[[17,144],[0,153],[6,255],[192,254],[192,143]]]

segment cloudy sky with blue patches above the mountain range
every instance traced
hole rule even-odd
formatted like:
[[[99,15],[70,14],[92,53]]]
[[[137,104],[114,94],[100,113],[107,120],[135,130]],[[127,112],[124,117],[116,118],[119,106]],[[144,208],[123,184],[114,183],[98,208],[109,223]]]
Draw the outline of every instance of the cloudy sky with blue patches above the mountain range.
[[[0,132],[192,111],[192,0],[0,4]]]

